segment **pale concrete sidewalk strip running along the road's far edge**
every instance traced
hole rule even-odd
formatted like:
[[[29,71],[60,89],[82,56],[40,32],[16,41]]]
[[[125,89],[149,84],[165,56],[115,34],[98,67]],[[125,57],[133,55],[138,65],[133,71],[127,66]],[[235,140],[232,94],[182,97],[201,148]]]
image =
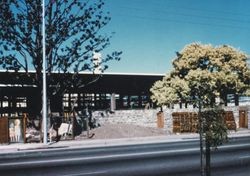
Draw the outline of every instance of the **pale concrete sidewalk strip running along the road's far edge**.
[[[240,129],[237,132],[230,131],[229,138],[250,136],[250,130]],[[135,137],[135,138],[119,138],[119,139],[81,139],[59,141],[56,143],[27,143],[27,144],[0,144],[0,154],[7,154],[20,151],[34,151],[44,149],[58,149],[58,148],[93,148],[93,147],[108,147],[119,145],[136,145],[148,143],[161,143],[161,142],[178,142],[198,140],[199,134],[184,133],[184,134],[167,134],[162,136],[153,137]]]

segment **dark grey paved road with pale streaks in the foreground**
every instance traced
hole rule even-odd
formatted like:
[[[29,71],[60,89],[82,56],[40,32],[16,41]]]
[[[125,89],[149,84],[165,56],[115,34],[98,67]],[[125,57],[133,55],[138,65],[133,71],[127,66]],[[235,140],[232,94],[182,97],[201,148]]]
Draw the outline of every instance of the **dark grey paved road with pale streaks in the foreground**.
[[[232,138],[212,152],[212,175],[248,176],[250,137]],[[113,147],[23,150],[0,155],[3,175],[200,175],[199,141]]]

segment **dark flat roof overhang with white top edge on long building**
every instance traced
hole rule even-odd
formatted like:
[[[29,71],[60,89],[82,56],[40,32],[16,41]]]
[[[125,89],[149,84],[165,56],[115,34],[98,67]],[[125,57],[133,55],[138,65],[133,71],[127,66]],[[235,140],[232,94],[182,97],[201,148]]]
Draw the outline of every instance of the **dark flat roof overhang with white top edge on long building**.
[[[0,72],[0,88],[27,89],[35,88],[35,72]],[[62,73],[52,73],[53,79],[60,79]],[[103,73],[100,75],[85,72],[79,74],[82,88],[72,90],[83,93],[117,93],[124,95],[149,94],[155,81],[161,80],[163,74],[138,73]],[[69,78],[70,79],[70,75]],[[95,82],[89,84],[89,82]],[[52,86],[53,87],[53,86]]]

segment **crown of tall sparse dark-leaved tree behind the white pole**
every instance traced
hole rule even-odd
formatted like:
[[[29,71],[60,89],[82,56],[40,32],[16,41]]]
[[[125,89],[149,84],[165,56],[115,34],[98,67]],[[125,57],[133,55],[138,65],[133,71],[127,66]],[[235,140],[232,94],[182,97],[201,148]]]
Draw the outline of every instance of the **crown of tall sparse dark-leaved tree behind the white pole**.
[[[48,96],[84,86],[79,72],[97,67],[92,62],[93,52],[99,53],[108,47],[112,35],[101,31],[111,20],[103,7],[103,0],[46,1],[47,83],[57,87],[48,92]],[[25,71],[26,76],[30,76],[29,70],[35,70],[33,84],[41,93],[42,0],[1,0],[0,29],[0,67],[7,71]],[[107,69],[108,61],[120,60],[120,55],[121,52],[113,52],[103,57],[102,71]],[[64,73],[65,77],[52,80],[53,72]]]

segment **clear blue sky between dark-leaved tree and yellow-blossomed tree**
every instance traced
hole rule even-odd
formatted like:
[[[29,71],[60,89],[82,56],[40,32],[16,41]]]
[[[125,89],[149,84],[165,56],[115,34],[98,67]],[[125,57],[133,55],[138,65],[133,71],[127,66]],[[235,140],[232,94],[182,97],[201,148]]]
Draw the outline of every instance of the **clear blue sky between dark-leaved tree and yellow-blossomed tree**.
[[[167,73],[192,42],[227,44],[250,54],[249,0],[105,0],[115,32],[106,52],[123,51],[108,72]],[[105,54],[105,53],[104,53]]]

